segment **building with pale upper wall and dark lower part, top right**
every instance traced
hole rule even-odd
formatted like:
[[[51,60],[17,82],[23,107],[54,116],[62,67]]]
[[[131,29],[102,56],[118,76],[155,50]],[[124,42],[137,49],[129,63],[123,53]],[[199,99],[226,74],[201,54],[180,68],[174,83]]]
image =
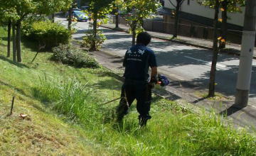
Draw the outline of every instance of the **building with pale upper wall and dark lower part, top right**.
[[[176,0],[164,0],[161,3],[164,7],[159,9],[159,13],[164,16],[164,33],[173,33]],[[228,13],[228,38],[233,43],[241,42],[245,8],[242,7],[241,10],[242,12]],[[196,0],[184,0],[179,17],[178,35],[213,38],[214,9],[200,5]],[[221,11],[219,18],[221,18]]]

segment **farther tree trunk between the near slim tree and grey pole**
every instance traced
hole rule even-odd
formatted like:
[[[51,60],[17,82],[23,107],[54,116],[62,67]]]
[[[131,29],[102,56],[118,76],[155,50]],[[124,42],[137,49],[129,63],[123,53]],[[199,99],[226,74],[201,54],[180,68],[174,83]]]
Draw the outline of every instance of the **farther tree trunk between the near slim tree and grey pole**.
[[[222,16],[222,23],[221,23],[221,40],[220,40],[220,49],[225,48],[225,43],[227,40],[227,33],[228,33],[228,26],[227,26],[227,21],[228,21],[228,15],[227,15],[227,9],[228,9],[228,0],[224,0],[222,2],[222,8],[224,11],[222,11],[221,16]]]

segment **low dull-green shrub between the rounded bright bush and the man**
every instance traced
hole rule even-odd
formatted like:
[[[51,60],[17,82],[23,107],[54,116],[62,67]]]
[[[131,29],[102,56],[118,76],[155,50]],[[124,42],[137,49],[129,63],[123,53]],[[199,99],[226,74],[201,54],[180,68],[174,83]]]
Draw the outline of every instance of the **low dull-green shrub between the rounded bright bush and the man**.
[[[94,58],[72,45],[60,44],[58,47],[53,48],[51,60],[73,65],[74,67],[100,67]]]

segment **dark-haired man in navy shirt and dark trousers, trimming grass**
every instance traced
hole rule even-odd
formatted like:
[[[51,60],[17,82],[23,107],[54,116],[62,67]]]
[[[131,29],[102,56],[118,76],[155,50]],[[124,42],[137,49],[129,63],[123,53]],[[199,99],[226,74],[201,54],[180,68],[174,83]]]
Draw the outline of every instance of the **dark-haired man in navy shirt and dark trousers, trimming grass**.
[[[117,121],[119,122],[128,113],[134,99],[137,100],[139,126],[146,126],[146,121],[151,118],[149,116],[151,89],[156,83],[157,65],[154,51],[146,47],[150,41],[149,33],[139,33],[137,44],[125,53],[124,84],[122,85],[121,100],[117,106]],[[150,77],[149,67],[151,67]]]

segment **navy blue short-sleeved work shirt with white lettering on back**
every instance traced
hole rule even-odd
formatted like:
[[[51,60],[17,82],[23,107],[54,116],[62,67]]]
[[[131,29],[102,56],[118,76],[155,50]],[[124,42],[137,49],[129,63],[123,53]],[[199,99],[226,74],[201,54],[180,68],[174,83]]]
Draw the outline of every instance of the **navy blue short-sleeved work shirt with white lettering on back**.
[[[137,81],[148,81],[149,67],[157,67],[154,51],[144,45],[134,45],[124,56],[124,78]]]

